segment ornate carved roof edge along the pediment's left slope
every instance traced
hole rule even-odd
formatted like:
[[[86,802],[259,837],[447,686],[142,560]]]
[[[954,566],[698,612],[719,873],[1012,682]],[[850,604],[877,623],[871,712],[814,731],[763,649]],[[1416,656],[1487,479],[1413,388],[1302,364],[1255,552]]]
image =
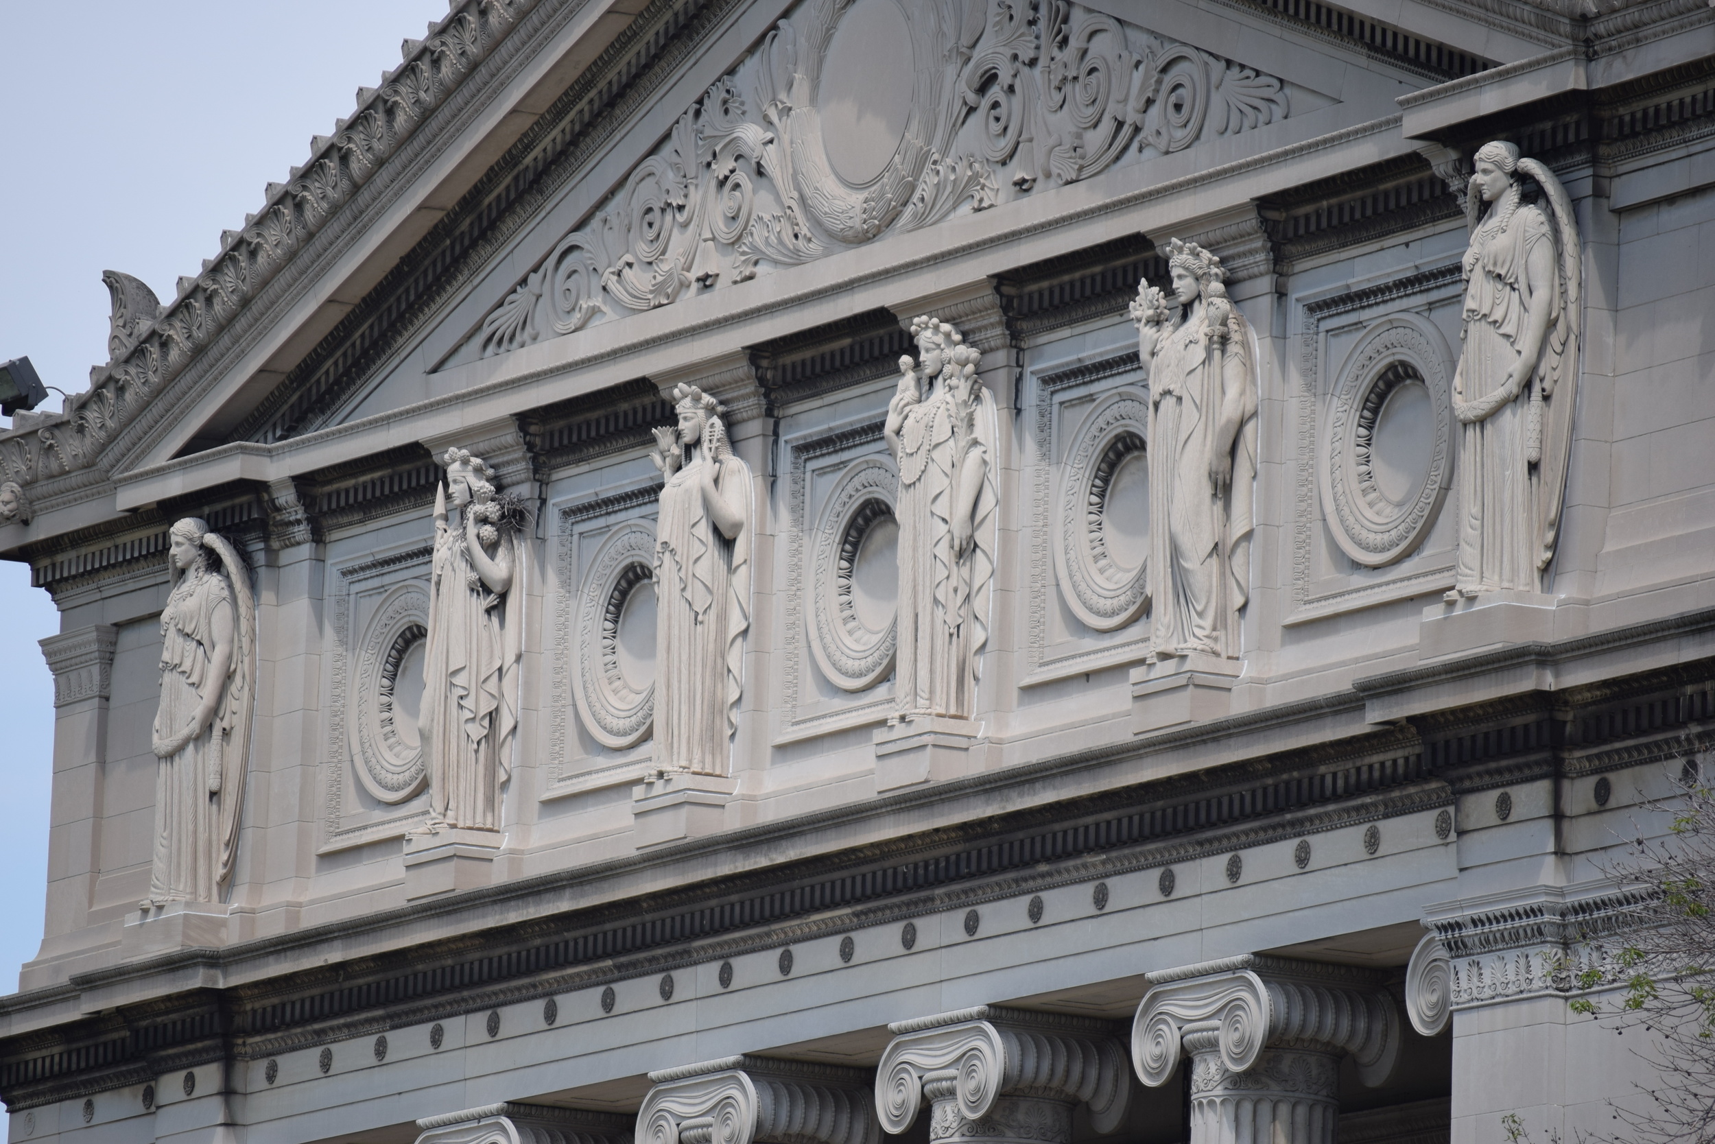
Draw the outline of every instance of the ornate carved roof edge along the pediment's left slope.
[[[0,439],[0,472],[29,484],[94,463],[113,436],[159,389],[182,374],[304,245],[352,201],[417,129],[518,26],[539,0],[456,0],[427,39],[406,39],[403,62],[379,89],[358,89],[358,108],[317,135],[312,154],[288,184],[269,184],[268,202],[244,230],[221,233],[221,250],[202,273],[180,278],[177,297],[159,305],[129,274],[108,278],[113,295],[111,360],[87,393],[34,439]]]

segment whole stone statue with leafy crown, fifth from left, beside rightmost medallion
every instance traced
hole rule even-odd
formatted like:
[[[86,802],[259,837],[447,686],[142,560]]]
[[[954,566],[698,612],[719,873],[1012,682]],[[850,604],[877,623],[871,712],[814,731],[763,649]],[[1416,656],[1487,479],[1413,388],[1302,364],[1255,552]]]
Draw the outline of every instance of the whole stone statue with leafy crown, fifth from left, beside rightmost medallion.
[[[1255,348],[1219,257],[1173,238],[1168,268],[1171,298],[1139,283],[1132,302],[1149,382],[1149,659],[1237,659],[1255,520]]]

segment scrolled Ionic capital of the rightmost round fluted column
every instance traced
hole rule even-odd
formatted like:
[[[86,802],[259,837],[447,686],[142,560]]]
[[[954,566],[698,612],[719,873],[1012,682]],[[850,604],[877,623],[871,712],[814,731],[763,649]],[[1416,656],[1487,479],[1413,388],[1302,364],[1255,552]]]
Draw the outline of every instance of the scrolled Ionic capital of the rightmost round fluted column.
[[[1351,1053],[1365,1084],[1381,1084],[1399,1055],[1399,1017],[1384,974],[1285,957],[1242,955],[1146,974],[1132,1021],[1132,1065],[1159,1087],[1182,1045],[1219,1033],[1221,1063],[1245,1072],[1264,1048],[1293,1045]],[[1190,1046],[1183,1046],[1190,1051]]]

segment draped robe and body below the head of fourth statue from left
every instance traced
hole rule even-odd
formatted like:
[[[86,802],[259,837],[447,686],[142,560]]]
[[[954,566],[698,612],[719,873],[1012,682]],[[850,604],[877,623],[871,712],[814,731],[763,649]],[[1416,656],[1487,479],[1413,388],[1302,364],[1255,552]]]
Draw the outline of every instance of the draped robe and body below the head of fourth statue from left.
[[[971,405],[942,377],[909,405],[899,429],[899,628],[894,696],[900,713],[969,719],[988,643],[995,580],[995,400],[971,382]],[[966,417],[969,413],[969,417]],[[954,554],[952,515],[960,470],[983,467],[971,509],[971,547]]]

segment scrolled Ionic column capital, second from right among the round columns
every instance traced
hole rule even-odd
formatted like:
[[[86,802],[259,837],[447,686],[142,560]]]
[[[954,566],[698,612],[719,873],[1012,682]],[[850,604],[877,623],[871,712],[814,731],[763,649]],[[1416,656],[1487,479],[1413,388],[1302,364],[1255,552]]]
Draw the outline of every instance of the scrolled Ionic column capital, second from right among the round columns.
[[[1106,1022],[983,1005],[888,1029],[875,1103],[895,1135],[924,1099],[931,1141],[1067,1144],[1077,1105],[1101,1134],[1125,1118],[1125,1048]]]

